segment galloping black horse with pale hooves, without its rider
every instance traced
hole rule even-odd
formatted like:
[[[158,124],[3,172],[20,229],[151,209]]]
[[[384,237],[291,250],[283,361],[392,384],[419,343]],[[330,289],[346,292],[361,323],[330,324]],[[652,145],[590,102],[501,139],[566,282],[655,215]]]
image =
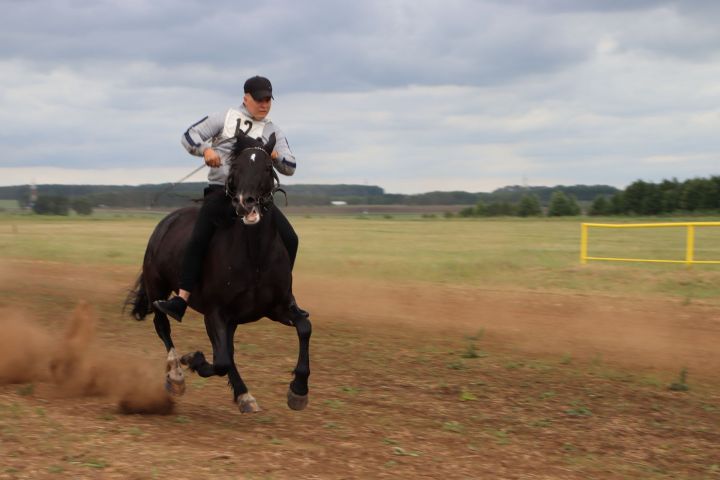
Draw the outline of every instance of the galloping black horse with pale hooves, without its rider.
[[[185,380],[180,364],[202,377],[228,376],[233,400],[241,412],[260,410],[240,377],[234,362],[233,337],[239,324],[268,317],[294,326],[300,340],[298,362],[288,389],[288,406],[302,410],[308,402],[310,334],[308,318],[291,311],[292,273],[290,258],[279,237],[273,215],[279,214],[273,194],[280,190],[270,153],[275,135],[267,144],[239,137],[231,155],[226,194],[237,214],[218,228],[204,260],[202,279],[189,305],[205,317],[205,329],[213,348],[213,363],[202,352],[179,357],[170,337],[170,322],[155,314],[155,330],[168,351],[166,387],[181,395]],[[178,289],[179,267],[190,238],[197,207],[176,210],[155,227],[135,289],[128,298],[132,315],[142,320],[152,311],[152,302],[166,299]]]

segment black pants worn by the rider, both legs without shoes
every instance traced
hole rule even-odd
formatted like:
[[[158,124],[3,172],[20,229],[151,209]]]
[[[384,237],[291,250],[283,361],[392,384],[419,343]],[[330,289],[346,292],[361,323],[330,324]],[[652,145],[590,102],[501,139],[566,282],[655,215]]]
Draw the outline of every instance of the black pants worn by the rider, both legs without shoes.
[[[297,256],[298,237],[288,219],[274,204],[273,218],[288,255],[290,268],[295,265]],[[192,236],[185,250],[182,273],[180,274],[180,288],[192,292],[202,273],[205,253],[210,246],[215,230],[222,225],[228,225],[236,217],[230,197],[225,195],[225,188],[221,185],[210,185],[205,188],[205,198],[200,213],[195,222]]]

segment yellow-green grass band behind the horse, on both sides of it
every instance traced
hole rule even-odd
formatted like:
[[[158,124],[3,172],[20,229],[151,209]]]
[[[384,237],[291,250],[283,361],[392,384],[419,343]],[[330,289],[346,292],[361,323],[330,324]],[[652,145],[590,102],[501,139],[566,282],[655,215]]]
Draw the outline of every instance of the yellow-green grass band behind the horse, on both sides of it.
[[[0,259],[139,268],[160,218],[144,213],[87,218],[0,214]],[[720,298],[720,265],[692,269],[674,264],[580,265],[580,223],[586,220],[291,218],[300,237],[296,271],[301,274],[487,289],[663,296],[681,299],[684,304]],[[683,258],[684,235],[684,229],[593,229],[590,254]],[[720,228],[698,229],[696,247],[696,258],[720,259]]]

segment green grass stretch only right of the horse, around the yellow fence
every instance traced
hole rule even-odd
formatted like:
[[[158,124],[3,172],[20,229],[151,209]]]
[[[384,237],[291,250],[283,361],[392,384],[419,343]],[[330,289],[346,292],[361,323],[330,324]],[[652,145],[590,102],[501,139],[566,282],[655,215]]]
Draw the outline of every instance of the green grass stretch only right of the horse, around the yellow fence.
[[[299,268],[324,275],[493,289],[718,298],[720,265],[690,270],[677,264],[580,265],[581,221],[313,218],[294,223],[301,238]],[[651,258],[677,258],[677,251],[682,257],[684,237],[670,230],[645,230],[656,235],[616,239],[607,246],[593,232],[591,253],[600,247],[624,251],[642,246]],[[720,228],[699,229],[696,245],[698,258],[720,259]]]

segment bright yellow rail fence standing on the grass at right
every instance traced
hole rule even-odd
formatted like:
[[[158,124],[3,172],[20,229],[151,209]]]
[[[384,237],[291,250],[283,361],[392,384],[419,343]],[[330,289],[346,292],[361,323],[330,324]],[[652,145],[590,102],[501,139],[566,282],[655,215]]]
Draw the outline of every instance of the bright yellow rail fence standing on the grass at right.
[[[590,228],[687,228],[687,241],[685,243],[685,260],[657,260],[649,258],[610,258],[588,256],[588,230]],[[720,227],[720,222],[678,222],[678,223],[583,223],[580,231],[580,262],[585,264],[588,260],[605,260],[610,262],[649,262],[649,263],[684,263],[693,264],[720,264],[720,260],[695,260],[695,228]]]

